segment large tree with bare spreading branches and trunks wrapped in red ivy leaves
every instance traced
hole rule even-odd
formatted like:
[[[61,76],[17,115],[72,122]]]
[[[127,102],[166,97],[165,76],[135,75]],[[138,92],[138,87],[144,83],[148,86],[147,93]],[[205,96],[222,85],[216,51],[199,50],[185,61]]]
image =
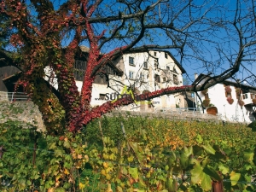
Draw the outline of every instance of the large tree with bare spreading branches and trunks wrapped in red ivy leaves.
[[[232,2],[233,3],[233,2]],[[254,3],[164,0],[3,0],[2,13],[11,20],[12,53],[1,49],[1,65],[23,70],[19,84],[43,113],[50,133],[78,131],[131,98],[90,108],[92,84],[109,61],[131,51],[168,49],[183,66],[204,68],[212,78],[198,86],[166,87],[139,95],[140,100],[181,91],[199,91],[229,79],[241,64],[255,58]],[[79,45],[90,47],[81,94],[73,76]],[[44,81],[51,67],[60,97]]]

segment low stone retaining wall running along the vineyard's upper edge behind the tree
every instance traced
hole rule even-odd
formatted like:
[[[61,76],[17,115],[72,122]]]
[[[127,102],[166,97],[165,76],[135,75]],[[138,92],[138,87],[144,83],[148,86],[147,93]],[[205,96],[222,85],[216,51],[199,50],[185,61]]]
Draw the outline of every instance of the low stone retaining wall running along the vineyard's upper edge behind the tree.
[[[2,97],[3,98],[3,97]],[[108,117],[113,116],[148,116],[151,118],[167,118],[167,119],[184,119],[184,120],[204,120],[204,121],[218,121],[218,116],[203,114],[200,112],[183,111],[178,108],[171,110],[157,110],[155,112],[126,112],[123,110],[114,110],[112,113],[107,113]],[[45,131],[42,114],[39,112],[38,107],[33,102],[8,102],[0,101],[0,123],[7,120],[18,120],[23,122],[25,127],[27,123],[38,126],[38,131]]]

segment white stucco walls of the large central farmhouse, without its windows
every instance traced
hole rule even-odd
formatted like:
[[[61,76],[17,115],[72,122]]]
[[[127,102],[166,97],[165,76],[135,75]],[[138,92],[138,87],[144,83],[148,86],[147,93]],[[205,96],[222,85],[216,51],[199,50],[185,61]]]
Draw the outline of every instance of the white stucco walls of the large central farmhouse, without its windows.
[[[170,86],[181,86],[183,85],[183,77],[182,77],[182,71],[179,67],[176,66],[175,62],[172,60],[172,57],[170,55],[166,55],[164,51],[149,51],[150,55],[153,55],[155,58],[158,58],[158,68],[155,68],[154,61],[155,58],[148,55],[147,52],[143,53],[131,53],[131,54],[125,54],[122,55],[119,59],[116,61],[113,61],[113,63],[116,65],[116,67],[119,67],[120,70],[124,71],[124,75],[122,77],[118,76],[110,76],[110,86],[117,90],[119,93],[123,90],[123,84],[126,84],[127,86],[134,86],[139,92],[139,94],[143,93],[143,91],[154,91],[159,90],[162,88],[170,87]],[[134,58],[134,65],[129,64],[129,57]],[[166,58],[167,57],[167,58]],[[148,69],[145,69],[143,67],[144,62],[148,63]],[[163,82],[163,70],[166,70],[166,67],[169,67],[170,74],[172,74],[173,69],[175,68],[176,75],[177,75],[177,81],[178,84],[173,83],[173,77],[171,76],[171,80],[167,82]],[[133,72],[134,79],[129,79],[129,73]],[[50,75],[50,69],[49,67],[45,68],[46,77],[45,79],[48,80]],[[140,80],[140,73],[143,73],[144,76],[144,82]],[[155,84],[154,81],[154,75],[160,75],[160,83]],[[166,73],[164,73],[166,74]],[[117,81],[114,81],[114,79],[118,80],[122,84],[118,83]],[[55,89],[58,89],[57,80],[50,79],[50,82],[54,85]],[[76,81],[76,85],[78,86],[78,90],[81,91],[83,82],[82,81]],[[107,88],[106,84],[93,84],[92,86],[92,98],[91,98],[91,106],[95,107],[98,105],[102,105],[104,102],[107,102],[105,100],[99,100],[100,94],[113,94],[115,91],[113,89]],[[176,108],[176,104],[180,106],[180,108],[184,107],[184,102],[182,101],[183,98],[177,95],[170,95],[170,96],[160,96],[158,98],[154,98],[152,100],[152,103],[154,105],[154,108]],[[130,105],[123,107],[124,110],[133,110],[133,111],[154,111],[154,108],[148,107],[148,104],[146,102],[144,103],[137,103],[136,105]]]

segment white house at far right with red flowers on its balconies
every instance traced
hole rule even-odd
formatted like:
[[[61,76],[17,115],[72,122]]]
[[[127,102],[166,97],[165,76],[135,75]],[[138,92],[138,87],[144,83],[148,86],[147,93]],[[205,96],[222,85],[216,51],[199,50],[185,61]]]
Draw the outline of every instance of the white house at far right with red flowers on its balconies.
[[[200,74],[193,84],[203,84],[208,78],[209,76]],[[255,119],[256,101],[253,99],[256,98],[256,87],[225,80],[198,94],[203,104],[195,95],[197,107],[207,109],[214,106],[223,120],[250,123]]]

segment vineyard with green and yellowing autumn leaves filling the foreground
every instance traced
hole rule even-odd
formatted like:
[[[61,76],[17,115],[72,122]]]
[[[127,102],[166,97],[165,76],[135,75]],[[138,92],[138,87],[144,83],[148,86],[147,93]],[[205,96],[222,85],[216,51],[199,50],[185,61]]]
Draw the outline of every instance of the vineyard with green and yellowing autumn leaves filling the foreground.
[[[256,190],[256,135],[245,125],[128,113],[75,137],[24,128],[0,125],[1,191]]]

